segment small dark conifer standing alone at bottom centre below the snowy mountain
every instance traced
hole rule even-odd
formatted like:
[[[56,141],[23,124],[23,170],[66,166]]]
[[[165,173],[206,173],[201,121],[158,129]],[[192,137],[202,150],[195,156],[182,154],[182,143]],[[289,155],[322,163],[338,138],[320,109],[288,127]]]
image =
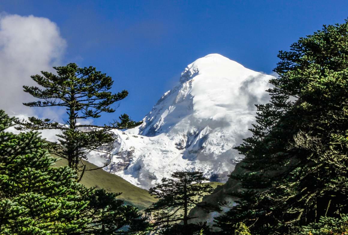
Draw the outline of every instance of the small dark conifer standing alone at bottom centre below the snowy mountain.
[[[188,212],[193,206],[208,211],[216,210],[215,207],[201,202],[199,198],[205,193],[213,192],[213,188],[208,184],[202,184],[208,180],[202,172],[174,172],[171,176],[173,179],[163,178],[160,184],[149,190],[159,201],[145,211],[152,213],[156,226],[165,228],[164,234],[176,234],[175,231],[180,230],[182,226],[178,224],[180,221],[183,222],[182,234],[192,234],[193,230],[184,229],[189,227],[188,221],[192,219]],[[191,228],[197,228],[195,231],[199,231],[201,227],[192,225]]]

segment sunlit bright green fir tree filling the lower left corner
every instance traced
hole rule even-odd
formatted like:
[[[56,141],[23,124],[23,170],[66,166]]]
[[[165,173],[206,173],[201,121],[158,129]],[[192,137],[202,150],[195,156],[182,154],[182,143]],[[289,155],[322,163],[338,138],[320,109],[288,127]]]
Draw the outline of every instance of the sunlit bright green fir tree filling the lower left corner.
[[[14,121],[0,110],[0,234],[70,234],[89,219],[78,219],[88,202],[68,167],[55,159],[37,132],[14,135]]]

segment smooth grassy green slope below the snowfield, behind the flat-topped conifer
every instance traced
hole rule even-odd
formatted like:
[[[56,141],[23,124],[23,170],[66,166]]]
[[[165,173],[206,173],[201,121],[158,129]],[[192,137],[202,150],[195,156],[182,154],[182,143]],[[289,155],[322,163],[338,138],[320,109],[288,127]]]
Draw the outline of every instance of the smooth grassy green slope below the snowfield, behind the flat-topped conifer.
[[[87,168],[95,168],[96,165],[87,163]],[[67,166],[68,161],[66,159],[60,159],[56,162],[57,167]],[[118,196],[119,199],[124,200],[126,203],[132,204],[139,209],[145,209],[149,207],[157,199],[150,196],[147,190],[138,188],[128,181],[122,179],[120,176],[111,174],[103,169],[97,169],[95,171],[86,171],[84,177],[82,177],[81,183],[86,187],[98,187],[103,188],[109,192],[122,192]]]

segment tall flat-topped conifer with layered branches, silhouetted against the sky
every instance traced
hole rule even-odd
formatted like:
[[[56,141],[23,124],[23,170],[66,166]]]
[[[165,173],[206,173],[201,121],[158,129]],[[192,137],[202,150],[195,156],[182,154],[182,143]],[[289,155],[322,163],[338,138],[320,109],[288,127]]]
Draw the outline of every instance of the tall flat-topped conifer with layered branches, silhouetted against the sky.
[[[80,171],[78,180],[80,181],[86,170],[92,170],[86,169],[82,159],[87,159],[86,156],[90,151],[102,151],[112,147],[114,136],[110,132],[111,129],[133,128],[141,122],[134,122],[127,114],[122,114],[119,117],[120,121],[114,121],[108,125],[78,123],[78,120],[96,119],[103,112],[113,113],[115,110],[111,105],[124,99],[128,92],[126,90],[117,94],[109,92],[113,84],[112,78],[96,71],[94,67],[79,68],[77,64],[70,63],[67,66],[54,67],[54,69],[57,75],[41,71],[43,76],[31,76],[40,87],[23,86],[24,92],[43,101],[23,104],[29,107],[65,107],[66,121],[58,123],[50,119],[29,117],[29,121],[21,120],[16,123],[19,124],[20,130],[61,130],[62,134],[57,135],[60,143],[50,146],[49,151],[66,158],[72,169]],[[109,163],[110,161],[104,166]]]

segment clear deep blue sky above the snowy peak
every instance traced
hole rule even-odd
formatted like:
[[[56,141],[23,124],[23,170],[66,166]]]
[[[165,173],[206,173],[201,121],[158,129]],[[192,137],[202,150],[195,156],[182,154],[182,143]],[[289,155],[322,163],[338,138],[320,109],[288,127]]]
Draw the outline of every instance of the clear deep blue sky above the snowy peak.
[[[129,91],[101,121],[120,113],[141,120],[187,64],[220,53],[271,73],[279,50],[343,23],[348,1],[2,0],[0,12],[56,23],[67,45],[62,65],[92,65],[113,77],[115,92]]]

